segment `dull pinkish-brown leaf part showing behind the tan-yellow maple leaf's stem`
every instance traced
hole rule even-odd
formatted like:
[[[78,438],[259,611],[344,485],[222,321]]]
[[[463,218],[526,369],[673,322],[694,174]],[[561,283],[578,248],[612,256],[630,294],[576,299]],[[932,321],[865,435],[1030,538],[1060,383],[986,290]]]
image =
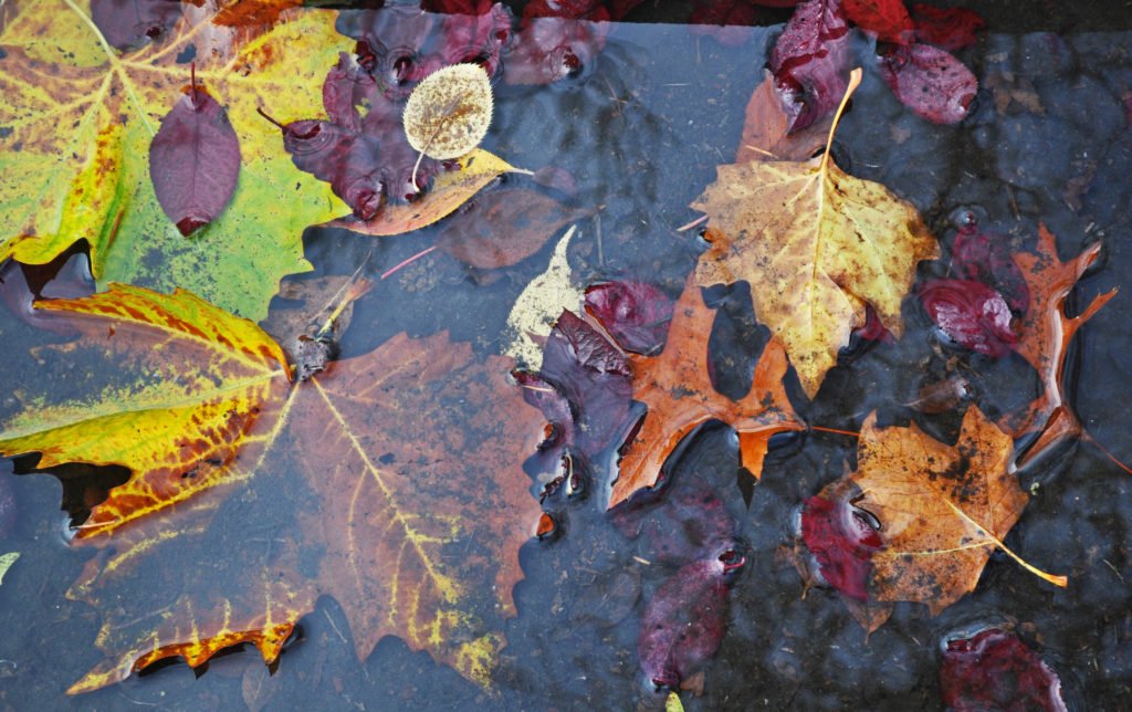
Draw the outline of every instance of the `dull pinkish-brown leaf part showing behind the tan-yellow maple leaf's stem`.
[[[763,71],[763,83],[747,101],[743,137],[735,154],[736,163],[748,161],[807,161],[825,146],[825,135],[833,117],[827,115],[800,131],[790,132],[790,117],[782,108],[782,96],[774,76]]]

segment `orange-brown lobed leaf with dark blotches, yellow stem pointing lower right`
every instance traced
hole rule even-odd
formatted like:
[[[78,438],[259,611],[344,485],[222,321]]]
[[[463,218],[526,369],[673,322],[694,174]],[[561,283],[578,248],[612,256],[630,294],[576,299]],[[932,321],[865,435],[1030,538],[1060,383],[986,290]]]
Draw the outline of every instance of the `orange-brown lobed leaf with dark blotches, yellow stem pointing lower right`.
[[[883,546],[871,559],[869,602],[846,599],[861,625],[876,629],[895,601],[940,614],[975,590],[996,548],[1044,581],[1066,585],[1064,576],[1038,571],[1002,542],[1029,501],[1012,453],[1013,439],[975,406],[955,445],[915,423],[878,428],[876,413],[865,420],[857,471],[822,492],[831,500],[851,492],[852,504],[880,523]]]

